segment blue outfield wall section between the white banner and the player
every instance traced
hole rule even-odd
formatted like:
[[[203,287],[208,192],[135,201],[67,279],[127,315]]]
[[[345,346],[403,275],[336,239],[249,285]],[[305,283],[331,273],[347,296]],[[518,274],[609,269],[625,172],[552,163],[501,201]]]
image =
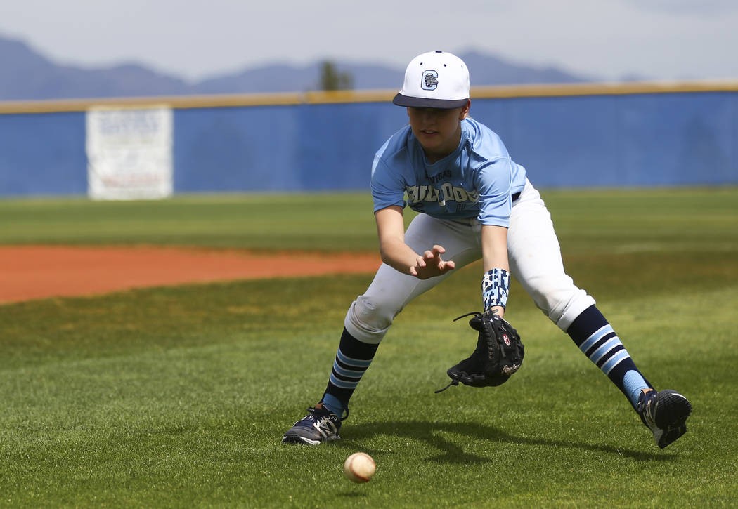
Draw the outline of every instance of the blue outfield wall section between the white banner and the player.
[[[176,111],[174,189],[365,189],[373,154],[405,122],[381,103]]]

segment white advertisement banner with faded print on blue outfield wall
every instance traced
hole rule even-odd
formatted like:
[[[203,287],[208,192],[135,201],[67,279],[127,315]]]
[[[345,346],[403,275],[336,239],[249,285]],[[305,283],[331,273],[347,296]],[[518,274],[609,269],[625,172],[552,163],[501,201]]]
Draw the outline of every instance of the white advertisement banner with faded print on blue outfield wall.
[[[173,114],[168,107],[91,108],[87,188],[95,200],[167,198],[173,190]]]

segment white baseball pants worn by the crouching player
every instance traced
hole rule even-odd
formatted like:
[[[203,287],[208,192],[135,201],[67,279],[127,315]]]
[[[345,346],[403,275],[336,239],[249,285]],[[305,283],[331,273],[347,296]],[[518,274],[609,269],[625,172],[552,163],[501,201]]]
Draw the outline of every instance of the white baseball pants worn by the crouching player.
[[[430,290],[461,267],[480,260],[481,225],[476,219],[436,219],[418,214],[405,232],[405,243],[422,253],[434,244],[446,248],[444,260],[456,268],[443,276],[419,280],[382,263],[365,294],[348,309],[344,325],[359,341],[378,344],[393,319],[408,302]],[[529,181],[514,201],[508,228],[508,260],[511,275],[523,286],[543,313],[562,330],[595,300],[577,288],[565,273],[559,239],[551,214]],[[480,299],[481,299],[480,274]]]

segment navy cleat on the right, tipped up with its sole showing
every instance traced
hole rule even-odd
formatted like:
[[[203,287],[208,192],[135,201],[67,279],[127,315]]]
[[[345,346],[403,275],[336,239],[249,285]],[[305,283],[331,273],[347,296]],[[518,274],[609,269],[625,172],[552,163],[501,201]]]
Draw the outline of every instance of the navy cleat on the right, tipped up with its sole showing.
[[[692,404],[671,389],[649,390],[641,392],[636,410],[663,449],[687,432],[686,420],[692,412]]]

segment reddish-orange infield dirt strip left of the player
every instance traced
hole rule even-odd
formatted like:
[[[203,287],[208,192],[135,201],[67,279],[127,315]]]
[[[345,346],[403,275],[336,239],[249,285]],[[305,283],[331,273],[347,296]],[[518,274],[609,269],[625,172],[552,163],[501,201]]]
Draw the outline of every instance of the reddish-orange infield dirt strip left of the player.
[[[0,246],[0,303],[224,280],[360,274],[379,254],[154,246]]]

